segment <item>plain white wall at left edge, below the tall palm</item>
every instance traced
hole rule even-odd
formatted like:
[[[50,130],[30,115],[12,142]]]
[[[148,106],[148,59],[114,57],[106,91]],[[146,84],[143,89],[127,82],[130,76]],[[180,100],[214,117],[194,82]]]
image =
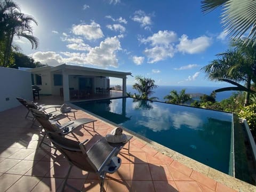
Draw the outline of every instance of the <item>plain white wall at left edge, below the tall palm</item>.
[[[0,67],[0,111],[21,105],[16,97],[33,100],[31,84],[29,71]]]

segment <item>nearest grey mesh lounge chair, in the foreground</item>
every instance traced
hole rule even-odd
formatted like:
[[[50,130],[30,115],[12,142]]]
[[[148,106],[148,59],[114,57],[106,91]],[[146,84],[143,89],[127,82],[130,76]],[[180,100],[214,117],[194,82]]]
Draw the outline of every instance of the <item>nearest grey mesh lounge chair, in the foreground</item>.
[[[88,140],[79,143],[56,134],[47,133],[47,135],[70,164],[61,191],[64,191],[66,186],[74,189],[67,183],[71,168],[74,165],[81,170],[98,174],[100,191],[103,190],[106,173],[116,172],[121,165],[121,158],[117,157],[119,149],[111,147],[105,138],[98,140],[89,150],[86,150],[84,143]]]

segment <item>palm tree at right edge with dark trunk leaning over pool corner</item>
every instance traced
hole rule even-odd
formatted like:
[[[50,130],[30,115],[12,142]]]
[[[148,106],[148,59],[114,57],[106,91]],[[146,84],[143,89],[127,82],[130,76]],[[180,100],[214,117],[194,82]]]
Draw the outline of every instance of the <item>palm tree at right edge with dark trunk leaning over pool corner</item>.
[[[245,41],[245,39],[233,39],[231,42],[233,50],[217,54],[219,58],[211,61],[201,70],[211,81],[224,81],[235,85],[235,87],[225,87],[215,92],[245,91],[244,105],[246,106],[249,104],[250,93],[253,92],[251,83],[256,82],[256,46],[254,46],[255,39],[250,39],[249,46],[244,44]]]

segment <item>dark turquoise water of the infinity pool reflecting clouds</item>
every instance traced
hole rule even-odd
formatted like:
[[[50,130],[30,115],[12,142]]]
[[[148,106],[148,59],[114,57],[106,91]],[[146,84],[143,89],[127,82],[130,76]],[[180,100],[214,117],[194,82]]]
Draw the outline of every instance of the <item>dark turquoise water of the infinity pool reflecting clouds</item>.
[[[132,98],[74,104],[230,174],[230,113]]]

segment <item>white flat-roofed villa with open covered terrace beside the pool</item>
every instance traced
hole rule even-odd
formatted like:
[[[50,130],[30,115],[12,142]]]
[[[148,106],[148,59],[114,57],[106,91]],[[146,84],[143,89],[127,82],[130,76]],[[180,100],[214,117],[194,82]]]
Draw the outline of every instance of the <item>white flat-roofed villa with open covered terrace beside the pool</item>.
[[[63,101],[83,99],[95,93],[108,93],[109,77],[122,79],[123,96],[126,96],[126,76],[131,73],[95,69],[62,64],[29,70],[32,84],[38,86],[40,94],[60,95]]]

